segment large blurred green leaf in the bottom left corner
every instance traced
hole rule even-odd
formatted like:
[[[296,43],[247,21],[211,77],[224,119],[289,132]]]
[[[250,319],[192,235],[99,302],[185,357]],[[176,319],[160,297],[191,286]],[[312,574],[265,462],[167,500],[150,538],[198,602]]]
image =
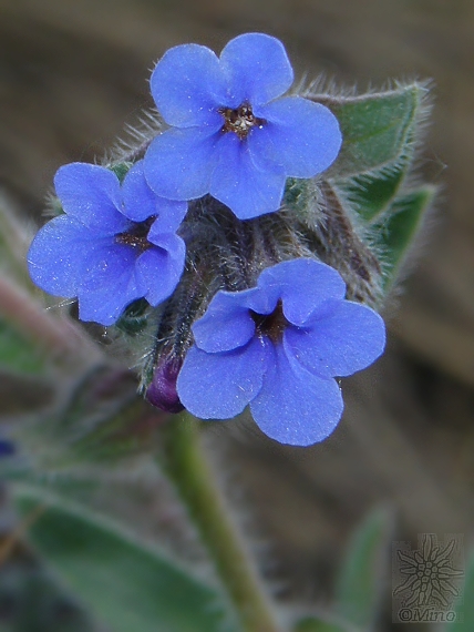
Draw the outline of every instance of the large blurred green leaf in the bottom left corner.
[[[223,630],[217,590],[159,550],[40,488],[16,486],[13,498],[23,517],[38,511],[28,533],[37,551],[114,632]]]

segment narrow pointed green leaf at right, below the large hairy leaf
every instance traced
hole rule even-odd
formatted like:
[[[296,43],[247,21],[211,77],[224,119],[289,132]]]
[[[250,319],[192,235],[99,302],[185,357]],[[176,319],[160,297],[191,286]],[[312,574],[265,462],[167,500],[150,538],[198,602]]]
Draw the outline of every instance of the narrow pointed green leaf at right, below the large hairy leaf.
[[[390,288],[403,264],[410,245],[421,226],[423,214],[431,205],[436,188],[423,186],[398,197],[387,212],[387,221],[380,225],[384,248],[385,288]]]

